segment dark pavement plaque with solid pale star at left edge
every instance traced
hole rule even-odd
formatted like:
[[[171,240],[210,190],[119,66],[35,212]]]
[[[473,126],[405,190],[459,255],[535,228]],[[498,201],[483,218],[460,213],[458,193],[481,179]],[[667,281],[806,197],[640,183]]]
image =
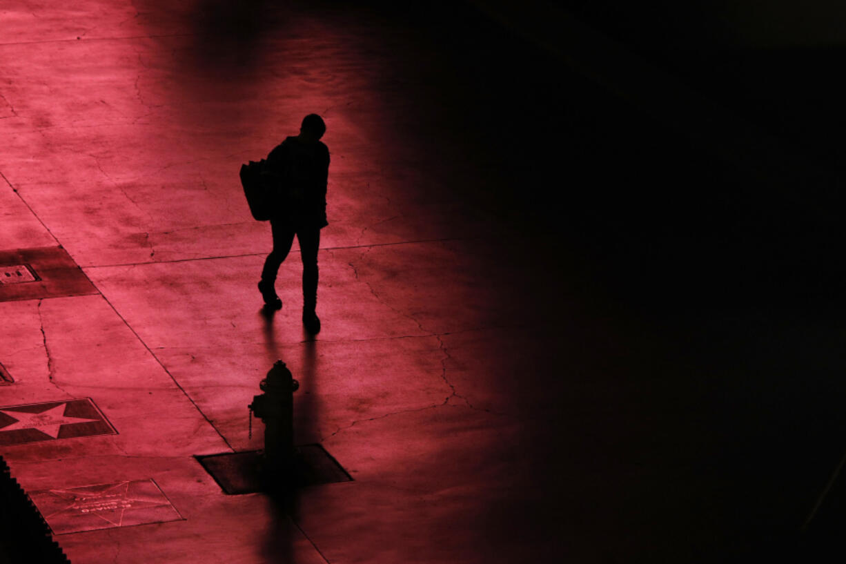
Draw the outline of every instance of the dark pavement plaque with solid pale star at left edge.
[[[0,446],[116,434],[91,398],[0,407]]]

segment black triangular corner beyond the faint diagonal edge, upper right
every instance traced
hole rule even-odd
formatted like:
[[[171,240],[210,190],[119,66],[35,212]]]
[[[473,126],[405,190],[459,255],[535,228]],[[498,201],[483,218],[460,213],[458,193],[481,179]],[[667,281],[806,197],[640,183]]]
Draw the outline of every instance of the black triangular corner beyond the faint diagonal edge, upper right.
[[[560,4],[808,157],[846,170],[846,89],[837,72],[846,36],[822,15],[839,21],[836,3],[772,3],[756,13],[754,3]]]

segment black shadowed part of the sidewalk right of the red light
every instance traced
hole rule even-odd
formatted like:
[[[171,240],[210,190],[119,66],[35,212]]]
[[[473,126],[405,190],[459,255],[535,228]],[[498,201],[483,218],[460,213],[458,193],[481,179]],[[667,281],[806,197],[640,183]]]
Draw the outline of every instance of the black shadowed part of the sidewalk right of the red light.
[[[534,291],[503,301],[542,311],[548,346],[514,354],[561,402],[521,430],[515,484],[547,499],[492,505],[491,530],[530,508],[535,556],[811,554],[846,434],[839,180],[772,185],[471,8],[406,10],[426,58],[386,88],[420,86],[427,119],[404,135],[512,238]]]

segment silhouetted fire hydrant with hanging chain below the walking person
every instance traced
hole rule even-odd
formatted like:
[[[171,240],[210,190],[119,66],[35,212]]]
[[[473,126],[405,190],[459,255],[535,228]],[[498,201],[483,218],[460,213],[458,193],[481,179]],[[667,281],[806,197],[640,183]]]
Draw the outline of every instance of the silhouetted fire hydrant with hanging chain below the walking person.
[[[263,474],[266,482],[285,478],[294,459],[294,391],[299,382],[285,363],[277,361],[261,380],[264,394],[253,396],[250,411],[265,424]]]

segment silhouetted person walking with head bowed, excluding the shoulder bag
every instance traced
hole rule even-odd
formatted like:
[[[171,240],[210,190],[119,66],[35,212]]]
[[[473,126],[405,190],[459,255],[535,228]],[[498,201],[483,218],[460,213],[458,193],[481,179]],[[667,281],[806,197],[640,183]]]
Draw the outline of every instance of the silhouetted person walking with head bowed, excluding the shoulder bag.
[[[317,317],[317,249],[326,218],[326,184],[329,149],[320,138],[326,124],[316,113],[303,119],[299,135],[287,137],[267,156],[267,168],[278,180],[280,197],[271,220],[273,250],[261,270],[259,291],[266,307],[280,309],[282,300],[274,284],[279,266],[288,257],[294,235],[303,261],[303,324],[314,334],[320,331]]]

